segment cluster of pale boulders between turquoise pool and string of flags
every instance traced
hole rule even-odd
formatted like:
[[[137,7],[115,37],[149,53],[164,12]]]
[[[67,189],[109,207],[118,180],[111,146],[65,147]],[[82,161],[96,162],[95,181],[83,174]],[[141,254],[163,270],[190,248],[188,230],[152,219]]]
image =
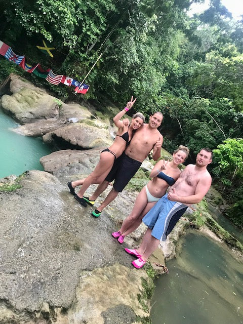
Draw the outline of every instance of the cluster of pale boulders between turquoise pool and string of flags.
[[[60,148],[90,149],[112,144],[114,129],[104,114],[102,121],[86,107],[66,104],[14,74],[9,77],[8,93],[11,95],[2,96],[0,107],[21,124],[14,129],[17,133],[43,136],[44,142]]]

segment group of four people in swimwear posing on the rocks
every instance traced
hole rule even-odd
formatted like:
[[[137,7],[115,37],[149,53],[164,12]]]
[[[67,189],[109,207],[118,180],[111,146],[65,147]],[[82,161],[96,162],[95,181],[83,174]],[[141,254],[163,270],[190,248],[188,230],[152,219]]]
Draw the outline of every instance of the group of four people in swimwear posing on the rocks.
[[[135,101],[136,98],[132,97],[127,106],[113,118],[118,128],[114,143],[101,152],[95,170],[86,179],[67,183],[74,198],[86,207],[87,204],[93,206],[96,198],[114,180],[103,203],[92,212],[94,217],[99,217],[103,209],[123,191],[151,150],[155,161],[160,157],[163,136],[157,128],[163,120],[161,112],[153,113],[148,124],[145,124],[145,117],[140,112],[133,115],[130,124],[127,118],[120,119]],[[125,236],[138,228],[142,221],[148,226],[137,250],[125,248],[127,253],[137,257],[132,262],[135,268],[141,268],[146,263],[159,241],[166,240],[187,207],[199,203],[211,186],[212,178],[207,166],[212,162],[212,150],[201,149],[196,156],[195,165],[190,164],[181,172],[178,166],[188,155],[188,147],[180,145],[174,151],[171,161],[161,159],[155,164],[150,173],[152,180],[138,194],[131,214],[120,229],[112,233],[123,244]],[[90,197],[86,197],[85,191],[91,184],[99,185]],[[75,187],[80,185],[82,187],[75,194]]]

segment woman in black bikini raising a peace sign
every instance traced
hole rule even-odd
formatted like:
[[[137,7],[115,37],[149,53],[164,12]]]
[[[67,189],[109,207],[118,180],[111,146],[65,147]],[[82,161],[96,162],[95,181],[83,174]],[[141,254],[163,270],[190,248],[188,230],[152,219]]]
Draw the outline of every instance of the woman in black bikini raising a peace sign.
[[[86,202],[92,202],[89,198],[84,197],[85,191],[89,188],[91,184],[99,184],[104,181],[108,173],[110,172],[114,160],[123,153],[125,148],[129,145],[133,133],[142,126],[145,121],[145,117],[142,113],[137,112],[131,121],[129,126],[125,126],[123,121],[120,120],[125,113],[132,108],[135,103],[136,98],[127,103],[127,106],[121,110],[117,115],[114,116],[113,121],[116,127],[118,127],[114,143],[109,147],[104,149],[100,154],[100,160],[97,164],[95,170],[86,178],[77,181],[68,182],[67,185],[70,189],[70,192],[74,195],[74,198],[83,206],[87,206]],[[74,188],[76,186],[82,185],[81,189],[75,194]]]

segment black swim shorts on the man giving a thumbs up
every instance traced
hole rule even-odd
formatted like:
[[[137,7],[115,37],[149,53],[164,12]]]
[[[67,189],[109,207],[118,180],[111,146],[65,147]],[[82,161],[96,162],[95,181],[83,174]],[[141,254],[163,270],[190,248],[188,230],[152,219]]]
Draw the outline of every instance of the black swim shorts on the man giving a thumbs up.
[[[115,191],[121,192],[136,174],[141,164],[141,162],[123,153],[114,161],[114,165],[105,180],[109,182],[115,180],[113,187]]]

